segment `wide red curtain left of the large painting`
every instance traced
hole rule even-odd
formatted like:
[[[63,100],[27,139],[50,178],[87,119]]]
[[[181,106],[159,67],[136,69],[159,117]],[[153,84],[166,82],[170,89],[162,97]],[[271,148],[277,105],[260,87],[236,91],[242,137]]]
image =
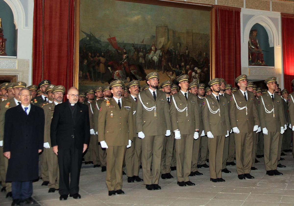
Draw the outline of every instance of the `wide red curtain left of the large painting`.
[[[34,0],[33,84],[73,86],[74,0]]]

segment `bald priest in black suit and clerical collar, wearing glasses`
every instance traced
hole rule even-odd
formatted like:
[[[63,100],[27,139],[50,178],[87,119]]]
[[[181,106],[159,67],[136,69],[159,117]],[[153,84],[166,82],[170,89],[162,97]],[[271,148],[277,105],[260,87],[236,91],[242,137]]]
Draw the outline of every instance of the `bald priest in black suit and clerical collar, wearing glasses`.
[[[68,195],[81,198],[78,185],[82,156],[90,140],[88,106],[78,102],[75,87],[67,91],[66,97],[68,101],[55,106],[50,131],[51,145],[58,155],[60,200],[66,200]]]

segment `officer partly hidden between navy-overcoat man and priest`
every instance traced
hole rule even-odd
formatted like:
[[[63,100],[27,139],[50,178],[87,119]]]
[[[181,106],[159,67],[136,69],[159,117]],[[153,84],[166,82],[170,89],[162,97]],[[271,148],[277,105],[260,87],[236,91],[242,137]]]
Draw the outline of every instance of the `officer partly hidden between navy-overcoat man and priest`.
[[[42,106],[42,108],[44,109],[44,114],[45,114],[45,126],[44,126],[45,133],[44,133],[44,150],[42,154],[43,161],[42,161],[41,170],[42,170],[42,180],[46,182],[46,185],[48,185],[49,187],[48,192],[55,192],[55,190],[59,189],[59,167],[58,167],[57,155],[54,154],[51,148],[50,126],[51,126],[51,119],[53,117],[55,105],[60,104],[63,101],[65,87],[62,85],[57,85],[52,88],[51,92],[53,93],[54,101],[52,103],[47,103]]]

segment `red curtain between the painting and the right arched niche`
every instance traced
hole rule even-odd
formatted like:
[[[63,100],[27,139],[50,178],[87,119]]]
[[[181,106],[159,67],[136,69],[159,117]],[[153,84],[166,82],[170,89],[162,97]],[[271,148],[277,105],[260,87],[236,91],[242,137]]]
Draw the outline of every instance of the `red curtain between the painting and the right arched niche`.
[[[241,75],[241,9],[213,7],[215,76],[235,85],[235,78]]]

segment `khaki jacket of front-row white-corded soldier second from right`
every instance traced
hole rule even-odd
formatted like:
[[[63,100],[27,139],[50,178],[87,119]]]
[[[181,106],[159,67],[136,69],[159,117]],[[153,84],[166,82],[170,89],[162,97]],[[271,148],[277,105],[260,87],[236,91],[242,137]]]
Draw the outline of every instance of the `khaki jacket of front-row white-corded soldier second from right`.
[[[254,97],[254,94],[250,91],[247,91],[247,94],[247,102],[240,89],[232,94],[230,97],[229,115],[231,127],[238,127],[240,132],[253,132],[254,125],[260,125],[257,108],[254,102],[254,99],[256,98]],[[238,107],[247,106],[247,115],[245,108],[242,110],[237,108],[233,95],[236,99]]]

